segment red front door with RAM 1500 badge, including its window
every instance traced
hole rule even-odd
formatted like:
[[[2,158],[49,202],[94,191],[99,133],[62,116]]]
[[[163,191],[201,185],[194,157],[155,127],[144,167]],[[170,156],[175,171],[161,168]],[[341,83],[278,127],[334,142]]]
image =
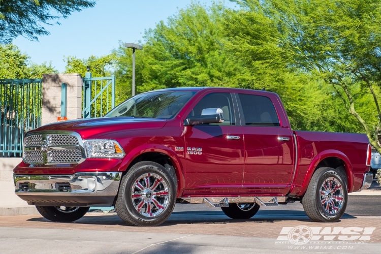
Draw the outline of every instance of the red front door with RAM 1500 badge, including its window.
[[[243,138],[231,93],[206,94],[188,116],[220,108],[224,122],[184,126],[185,194],[229,194],[242,188]]]

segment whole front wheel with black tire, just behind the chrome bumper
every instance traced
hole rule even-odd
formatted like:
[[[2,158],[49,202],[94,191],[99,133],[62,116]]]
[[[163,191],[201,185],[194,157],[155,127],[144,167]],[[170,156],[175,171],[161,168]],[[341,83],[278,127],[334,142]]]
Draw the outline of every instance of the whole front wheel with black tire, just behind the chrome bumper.
[[[175,172],[171,171],[174,171],[173,167],[163,167],[148,161],[132,166],[120,182],[115,202],[115,211],[119,217],[127,224],[140,227],[164,223],[176,202],[177,180]],[[156,179],[160,183],[154,187]],[[141,190],[137,184],[140,184]]]

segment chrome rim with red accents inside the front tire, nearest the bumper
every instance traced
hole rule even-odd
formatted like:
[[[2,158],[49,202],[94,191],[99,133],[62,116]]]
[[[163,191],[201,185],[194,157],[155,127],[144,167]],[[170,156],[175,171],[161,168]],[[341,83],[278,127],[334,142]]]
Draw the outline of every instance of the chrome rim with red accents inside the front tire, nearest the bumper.
[[[168,185],[160,175],[143,174],[132,185],[131,198],[135,209],[140,214],[155,217],[161,214],[168,205]]]

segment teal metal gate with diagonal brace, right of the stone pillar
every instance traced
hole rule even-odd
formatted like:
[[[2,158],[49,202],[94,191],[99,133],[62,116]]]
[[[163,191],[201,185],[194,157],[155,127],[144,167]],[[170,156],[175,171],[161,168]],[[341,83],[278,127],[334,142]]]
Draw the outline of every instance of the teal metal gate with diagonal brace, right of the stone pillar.
[[[115,107],[115,76],[93,78],[87,72],[83,80],[82,118],[102,117]]]

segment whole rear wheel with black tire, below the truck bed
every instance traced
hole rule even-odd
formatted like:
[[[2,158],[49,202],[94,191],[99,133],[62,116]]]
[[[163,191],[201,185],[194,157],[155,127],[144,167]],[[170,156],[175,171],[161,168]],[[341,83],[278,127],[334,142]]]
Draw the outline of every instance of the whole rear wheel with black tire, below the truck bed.
[[[343,167],[317,169],[302,199],[308,217],[313,221],[324,223],[340,219],[345,212],[347,202],[348,188]]]

